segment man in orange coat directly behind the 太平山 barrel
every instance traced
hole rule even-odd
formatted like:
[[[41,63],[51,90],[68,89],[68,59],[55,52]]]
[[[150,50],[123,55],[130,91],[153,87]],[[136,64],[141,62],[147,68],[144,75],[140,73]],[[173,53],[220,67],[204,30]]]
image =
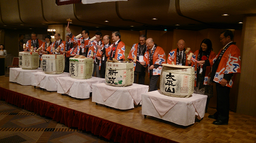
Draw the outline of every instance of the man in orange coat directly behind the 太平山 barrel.
[[[174,62],[174,65],[190,66],[190,63],[188,64],[188,61],[186,60],[185,45],[186,43],[183,39],[178,41],[178,48],[169,52],[167,64],[172,64],[172,62]],[[188,54],[190,52],[192,51],[190,50]]]

